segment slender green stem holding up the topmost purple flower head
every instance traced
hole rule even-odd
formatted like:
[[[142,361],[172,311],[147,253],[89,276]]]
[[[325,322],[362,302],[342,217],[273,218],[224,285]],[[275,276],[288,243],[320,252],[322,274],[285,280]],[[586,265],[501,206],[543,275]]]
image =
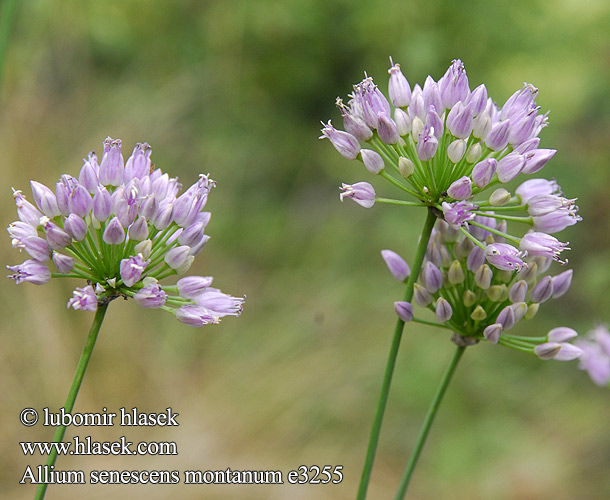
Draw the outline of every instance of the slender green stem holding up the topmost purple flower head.
[[[422,230],[421,239],[417,247],[415,254],[415,260],[413,267],[411,268],[411,276],[407,281],[407,289],[405,290],[404,300],[409,302],[413,298],[413,285],[419,276],[422,264],[424,262],[424,256],[426,255],[426,248],[428,247],[428,241],[430,240],[430,234],[434,223],[436,222],[436,215],[431,209],[428,209],[428,216],[424,223]],[[388,402],[388,394],[390,392],[390,385],[392,383],[392,375],[394,374],[394,366],[396,365],[396,357],[398,356],[398,348],[400,347],[400,341],[402,339],[402,331],[405,326],[404,321],[400,318],[396,321],[396,327],[394,329],[394,337],[392,338],[392,345],[390,346],[390,352],[388,354],[388,362],[386,364],[385,373],[383,375],[383,381],[381,383],[381,390],[379,393],[379,401],[377,403],[377,411],[375,413],[375,419],[373,420],[373,426],[371,428],[371,434],[369,437],[369,446],[364,461],[364,467],[362,469],[362,476],[360,477],[360,486],[358,487],[357,500],[364,500],[366,498],[366,491],[369,486],[371,479],[371,472],[373,470],[373,462],[375,461],[375,453],[377,452],[377,445],[379,443],[379,435],[381,433],[381,424],[383,422],[383,414],[385,413],[385,407]]]

